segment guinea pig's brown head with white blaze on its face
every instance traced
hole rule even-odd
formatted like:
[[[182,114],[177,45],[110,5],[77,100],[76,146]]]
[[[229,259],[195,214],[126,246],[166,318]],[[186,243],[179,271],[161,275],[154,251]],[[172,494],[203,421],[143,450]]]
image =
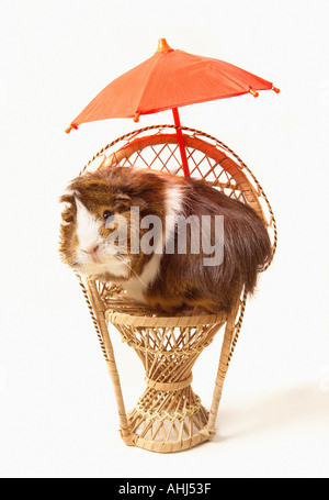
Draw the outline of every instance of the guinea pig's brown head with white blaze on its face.
[[[136,234],[139,237],[141,218],[145,213],[161,216],[159,189],[150,189],[149,182],[161,189],[161,179],[146,175],[141,180],[129,167],[100,169],[72,180],[60,198],[66,203],[60,226],[63,262],[82,275],[128,279],[132,260],[140,258],[132,246]]]

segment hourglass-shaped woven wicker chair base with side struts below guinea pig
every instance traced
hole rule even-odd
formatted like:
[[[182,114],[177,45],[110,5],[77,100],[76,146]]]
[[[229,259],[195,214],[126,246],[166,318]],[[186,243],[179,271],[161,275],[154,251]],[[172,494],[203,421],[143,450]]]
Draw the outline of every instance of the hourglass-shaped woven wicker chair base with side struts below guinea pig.
[[[243,302],[238,301],[228,314],[201,316],[157,316],[128,311],[128,303],[111,289],[111,309],[104,308],[109,290],[102,284],[81,278],[90,312],[113,384],[118,410],[121,436],[128,446],[157,453],[189,449],[215,434],[215,423],[229,356],[236,333],[236,318]],[[116,302],[115,302],[116,301]],[[107,302],[109,303],[109,302]],[[115,308],[115,304],[118,304]],[[138,315],[136,314],[138,312]],[[241,316],[240,316],[241,319]],[[109,325],[120,332],[122,341],[134,348],[145,368],[146,389],[136,407],[126,413]],[[211,411],[192,389],[192,369],[200,354],[212,344],[225,325],[223,347]]]

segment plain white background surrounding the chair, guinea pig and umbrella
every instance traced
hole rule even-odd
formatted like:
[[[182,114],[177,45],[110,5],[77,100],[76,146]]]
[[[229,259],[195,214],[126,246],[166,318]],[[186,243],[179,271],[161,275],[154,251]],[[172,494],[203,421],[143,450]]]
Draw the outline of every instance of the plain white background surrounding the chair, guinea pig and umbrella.
[[[328,477],[328,1],[1,0],[2,477]],[[66,126],[159,37],[280,87],[181,109],[229,145],[272,203],[279,248],[249,301],[213,442],[126,447],[76,277],[57,254],[58,197],[129,119]],[[172,123],[170,112],[139,126]],[[126,405],[137,356],[112,337]],[[195,367],[208,407],[222,336]],[[136,357],[136,359],[135,359]]]

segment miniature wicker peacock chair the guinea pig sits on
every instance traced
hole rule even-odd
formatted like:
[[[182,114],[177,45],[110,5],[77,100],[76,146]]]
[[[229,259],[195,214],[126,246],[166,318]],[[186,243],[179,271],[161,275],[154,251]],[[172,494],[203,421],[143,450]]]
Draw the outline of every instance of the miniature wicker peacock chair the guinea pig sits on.
[[[80,173],[101,166],[148,167],[183,175],[175,126],[155,125],[128,133],[101,149]],[[203,178],[252,207],[276,247],[276,225],[261,186],[226,145],[201,131],[181,127],[191,176]],[[269,264],[270,265],[270,264]],[[266,267],[269,267],[269,265]],[[77,275],[82,287],[115,392],[121,435],[127,445],[170,453],[211,440],[228,366],[241,329],[246,293],[229,314],[169,316],[137,304],[117,286]],[[109,323],[134,348],[146,373],[146,389],[126,412]],[[191,387],[192,368],[215,334],[224,327],[223,347],[211,410]]]

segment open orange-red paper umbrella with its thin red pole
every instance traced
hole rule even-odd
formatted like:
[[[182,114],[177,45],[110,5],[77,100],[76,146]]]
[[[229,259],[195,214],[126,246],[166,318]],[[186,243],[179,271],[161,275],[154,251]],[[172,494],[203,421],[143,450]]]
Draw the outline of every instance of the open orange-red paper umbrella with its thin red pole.
[[[280,90],[273,84],[229,63],[172,49],[160,38],[157,52],[105,87],[71,122],[69,133],[81,123],[110,118],[134,118],[171,109],[180,126],[178,108],[197,102]],[[178,142],[189,175],[181,130]]]

